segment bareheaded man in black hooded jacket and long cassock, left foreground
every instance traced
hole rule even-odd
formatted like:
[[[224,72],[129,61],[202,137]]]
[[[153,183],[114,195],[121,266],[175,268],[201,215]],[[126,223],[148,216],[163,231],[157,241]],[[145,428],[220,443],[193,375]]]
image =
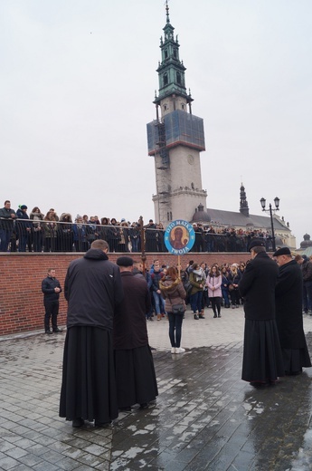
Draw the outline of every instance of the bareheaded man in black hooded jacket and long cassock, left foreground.
[[[102,427],[118,417],[113,358],[113,318],[123,299],[118,266],[99,239],[71,262],[65,279],[68,301],[60,417],[80,427],[84,419]]]

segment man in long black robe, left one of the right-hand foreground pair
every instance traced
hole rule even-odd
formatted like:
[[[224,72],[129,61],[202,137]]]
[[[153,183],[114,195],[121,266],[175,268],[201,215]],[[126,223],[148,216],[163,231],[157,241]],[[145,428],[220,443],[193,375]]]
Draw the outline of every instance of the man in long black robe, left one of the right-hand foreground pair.
[[[265,251],[264,239],[252,239],[251,262],[241,276],[245,332],[241,379],[252,386],[274,383],[284,376],[275,321],[275,284],[279,267]]]

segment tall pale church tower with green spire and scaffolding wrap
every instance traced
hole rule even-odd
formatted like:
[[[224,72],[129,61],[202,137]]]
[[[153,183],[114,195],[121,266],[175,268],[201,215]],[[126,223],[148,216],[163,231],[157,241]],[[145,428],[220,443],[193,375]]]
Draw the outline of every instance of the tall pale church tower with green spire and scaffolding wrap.
[[[160,38],[159,91],[155,96],[156,120],[147,124],[148,155],[155,158],[156,222],[167,226],[175,219],[191,221],[195,208],[206,210],[202,188],[200,152],[205,149],[203,120],[192,114],[191,92],[185,87],[185,67],[180,61],[175,28],[166,23]]]

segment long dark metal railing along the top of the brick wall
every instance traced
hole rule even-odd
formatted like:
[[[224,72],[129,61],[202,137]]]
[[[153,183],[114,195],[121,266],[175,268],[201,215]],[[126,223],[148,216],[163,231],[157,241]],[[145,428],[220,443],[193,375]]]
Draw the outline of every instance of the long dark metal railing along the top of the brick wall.
[[[1,219],[0,245],[2,252],[86,252],[96,239],[106,240],[110,252],[164,253],[165,229],[134,226],[101,226],[61,221],[31,219]],[[142,244],[144,237],[144,244]],[[235,232],[215,234],[196,232],[191,252],[248,252],[251,236]],[[271,250],[271,239],[265,239]],[[5,247],[6,245],[6,247]],[[142,246],[143,245],[143,246]]]

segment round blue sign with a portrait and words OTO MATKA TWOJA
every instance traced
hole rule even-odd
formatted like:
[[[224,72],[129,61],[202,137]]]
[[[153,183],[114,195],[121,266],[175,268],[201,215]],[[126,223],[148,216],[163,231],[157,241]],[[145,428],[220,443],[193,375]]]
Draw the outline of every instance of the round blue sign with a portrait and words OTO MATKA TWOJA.
[[[187,254],[195,242],[192,224],[183,219],[176,219],[165,228],[165,246],[175,255]]]

